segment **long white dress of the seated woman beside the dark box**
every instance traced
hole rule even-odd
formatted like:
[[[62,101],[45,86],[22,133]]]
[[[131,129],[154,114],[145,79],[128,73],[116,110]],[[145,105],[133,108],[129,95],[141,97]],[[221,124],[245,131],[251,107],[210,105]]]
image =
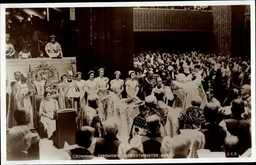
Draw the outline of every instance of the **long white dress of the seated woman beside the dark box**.
[[[59,109],[58,102],[54,99],[50,99],[49,101],[42,99],[40,103],[39,114],[42,112],[48,114],[51,118],[53,118],[54,111]],[[55,120],[49,119],[49,117],[45,117],[41,115],[41,123],[44,125],[45,130],[47,130],[48,138],[52,136],[53,131],[56,130],[56,122]]]

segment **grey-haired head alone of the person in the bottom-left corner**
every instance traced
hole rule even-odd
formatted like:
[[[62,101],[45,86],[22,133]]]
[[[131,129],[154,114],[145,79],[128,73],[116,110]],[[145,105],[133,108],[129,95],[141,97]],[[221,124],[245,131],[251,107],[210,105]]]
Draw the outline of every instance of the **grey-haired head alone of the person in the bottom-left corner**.
[[[7,134],[7,148],[11,152],[26,151],[31,146],[32,132],[26,125],[14,126]]]

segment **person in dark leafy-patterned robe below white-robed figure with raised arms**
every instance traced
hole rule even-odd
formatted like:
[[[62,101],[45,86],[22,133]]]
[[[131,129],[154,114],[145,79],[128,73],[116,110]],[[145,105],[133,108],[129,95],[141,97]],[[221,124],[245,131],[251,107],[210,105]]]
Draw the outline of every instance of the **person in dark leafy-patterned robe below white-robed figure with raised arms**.
[[[204,110],[200,108],[202,99],[199,96],[193,97],[191,100],[192,107],[187,108],[179,116],[179,130],[180,129],[198,129],[201,127],[204,120]],[[179,131],[178,130],[178,131]]]

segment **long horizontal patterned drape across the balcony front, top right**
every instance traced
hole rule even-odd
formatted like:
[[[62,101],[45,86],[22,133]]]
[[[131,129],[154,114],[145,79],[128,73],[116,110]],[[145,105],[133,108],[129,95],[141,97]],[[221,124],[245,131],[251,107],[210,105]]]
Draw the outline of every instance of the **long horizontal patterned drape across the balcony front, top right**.
[[[175,9],[133,9],[134,31],[212,31],[212,12]]]

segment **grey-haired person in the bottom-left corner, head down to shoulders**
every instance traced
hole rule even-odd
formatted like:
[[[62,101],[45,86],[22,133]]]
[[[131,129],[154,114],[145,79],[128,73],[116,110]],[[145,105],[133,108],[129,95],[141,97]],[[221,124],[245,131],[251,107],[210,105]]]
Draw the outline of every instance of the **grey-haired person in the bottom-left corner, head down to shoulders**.
[[[27,150],[31,146],[32,132],[27,125],[12,127],[6,139],[7,160],[30,160]]]

